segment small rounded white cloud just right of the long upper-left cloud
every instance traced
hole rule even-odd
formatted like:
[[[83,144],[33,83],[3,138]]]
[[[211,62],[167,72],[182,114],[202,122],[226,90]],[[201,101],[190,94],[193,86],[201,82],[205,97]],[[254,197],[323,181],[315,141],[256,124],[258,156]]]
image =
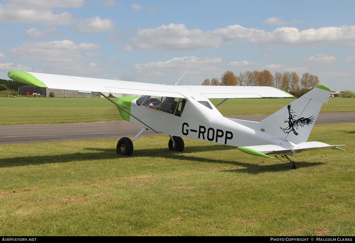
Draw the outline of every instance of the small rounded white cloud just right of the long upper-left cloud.
[[[100,17],[88,18],[82,21],[73,27],[73,30],[82,33],[101,33],[117,30],[115,28],[116,23],[111,19],[100,19]]]

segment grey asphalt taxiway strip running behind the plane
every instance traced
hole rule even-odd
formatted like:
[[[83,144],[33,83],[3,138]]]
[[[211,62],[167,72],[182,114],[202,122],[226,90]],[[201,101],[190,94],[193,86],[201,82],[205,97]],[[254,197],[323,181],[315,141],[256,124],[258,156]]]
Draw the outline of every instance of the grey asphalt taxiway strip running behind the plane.
[[[229,118],[260,122],[269,115],[234,115]],[[315,124],[355,122],[355,112],[320,113]],[[141,126],[126,121],[0,126],[0,144],[134,137]],[[141,136],[156,135],[144,131]]]

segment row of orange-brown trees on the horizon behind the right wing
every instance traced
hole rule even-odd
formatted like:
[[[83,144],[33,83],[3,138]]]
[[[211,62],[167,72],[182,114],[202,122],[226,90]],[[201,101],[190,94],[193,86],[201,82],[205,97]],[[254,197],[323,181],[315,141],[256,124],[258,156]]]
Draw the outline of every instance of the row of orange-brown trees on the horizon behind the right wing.
[[[273,86],[289,92],[294,96],[300,96],[319,85],[316,75],[304,73],[300,79],[295,72],[276,72],[274,75],[269,70],[253,70],[239,73],[236,76],[231,71],[226,71],[220,79],[205,79],[202,85],[240,85],[240,86]]]

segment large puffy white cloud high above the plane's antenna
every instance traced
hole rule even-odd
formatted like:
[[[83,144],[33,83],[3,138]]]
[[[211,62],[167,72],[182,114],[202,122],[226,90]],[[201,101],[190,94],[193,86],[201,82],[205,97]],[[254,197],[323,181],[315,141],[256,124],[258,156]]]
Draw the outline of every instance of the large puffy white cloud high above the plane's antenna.
[[[130,41],[135,50],[180,51],[217,48],[222,37],[201,29],[187,29],[185,24],[162,25],[154,29],[138,29]]]

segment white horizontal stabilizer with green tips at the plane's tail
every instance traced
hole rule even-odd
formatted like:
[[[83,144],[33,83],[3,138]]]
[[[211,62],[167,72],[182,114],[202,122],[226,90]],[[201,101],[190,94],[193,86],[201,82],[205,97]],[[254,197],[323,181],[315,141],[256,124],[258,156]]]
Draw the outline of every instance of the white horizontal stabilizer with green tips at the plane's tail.
[[[238,149],[248,154],[272,158],[268,155],[270,154],[296,155],[297,153],[304,152],[304,151],[327,149],[327,148],[343,151],[343,149],[338,148],[338,146],[344,146],[344,145],[329,145],[322,142],[302,142],[293,147],[287,145],[280,145],[280,144],[268,144],[268,145],[238,147]]]

